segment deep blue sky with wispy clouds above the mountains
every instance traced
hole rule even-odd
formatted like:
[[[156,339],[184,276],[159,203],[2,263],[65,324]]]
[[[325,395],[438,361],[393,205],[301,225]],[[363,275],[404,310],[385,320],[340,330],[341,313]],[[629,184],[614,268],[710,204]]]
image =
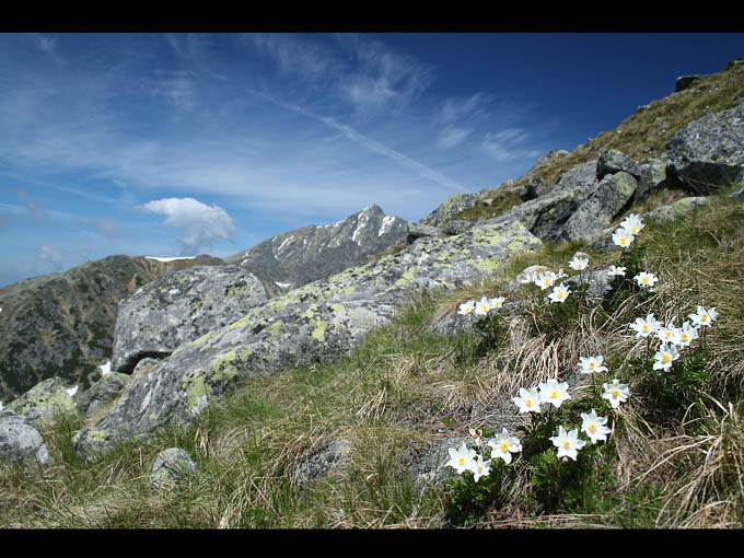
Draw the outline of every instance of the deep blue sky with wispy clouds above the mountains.
[[[0,286],[229,256],[573,150],[744,34],[0,34]]]

